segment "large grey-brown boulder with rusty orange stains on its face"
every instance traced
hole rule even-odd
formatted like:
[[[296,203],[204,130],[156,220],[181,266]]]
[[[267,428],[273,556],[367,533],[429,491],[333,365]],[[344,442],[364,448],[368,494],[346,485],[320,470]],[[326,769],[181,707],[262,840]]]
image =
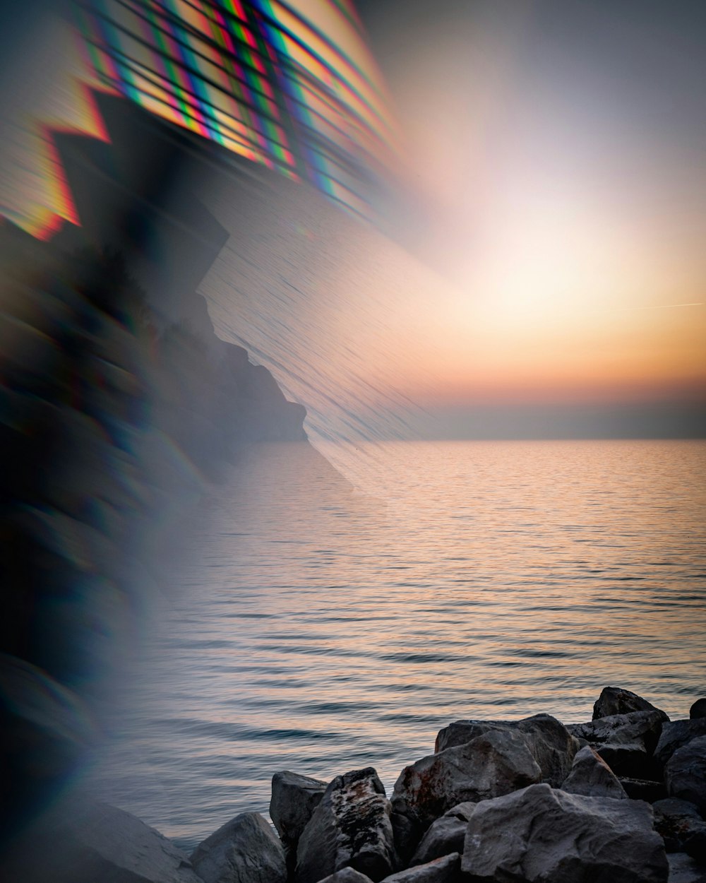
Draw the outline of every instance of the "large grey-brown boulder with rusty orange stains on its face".
[[[521,733],[490,730],[468,743],[406,766],[392,796],[394,837],[409,857],[432,821],[452,806],[507,794],[540,781],[542,771]]]

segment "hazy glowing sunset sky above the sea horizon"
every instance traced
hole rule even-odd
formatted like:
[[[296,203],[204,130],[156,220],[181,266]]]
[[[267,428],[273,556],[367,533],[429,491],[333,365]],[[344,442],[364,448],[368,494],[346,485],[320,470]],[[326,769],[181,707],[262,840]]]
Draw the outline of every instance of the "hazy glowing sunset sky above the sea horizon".
[[[265,292],[249,312],[233,294],[228,317],[215,305],[222,328],[242,321],[238,339],[293,395],[309,396],[321,432],[322,403],[337,400],[360,438],[371,415],[374,437],[399,434],[401,419],[424,437],[706,433],[706,7],[361,0],[357,9],[398,136],[376,202],[385,235],[282,184],[249,226],[267,245],[263,267],[291,268],[307,253],[301,267],[278,270],[300,296],[285,316],[282,298]],[[44,183],[24,162],[28,108],[51,124],[61,107],[70,125],[100,126],[68,80],[61,94],[42,87],[73,64],[56,19],[7,20],[15,51],[4,54],[0,97],[13,195]],[[313,253],[300,248],[301,230]],[[223,268],[232,280],[241,265]],[[266,307],[260,334],[253,317]],[[286,346],[273,332],[283,316]],[[312,377],[294,382],[313,351]]]

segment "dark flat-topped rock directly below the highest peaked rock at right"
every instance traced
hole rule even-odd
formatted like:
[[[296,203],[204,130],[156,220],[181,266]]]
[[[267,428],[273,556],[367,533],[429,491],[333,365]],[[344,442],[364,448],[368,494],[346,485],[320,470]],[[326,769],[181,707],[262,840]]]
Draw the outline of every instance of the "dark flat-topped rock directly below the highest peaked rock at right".
[[[589,723],[567,724],[567,730],[595,748],[613,773],[647,779],[662,732],[662,715],[660,711],[612,714]]]

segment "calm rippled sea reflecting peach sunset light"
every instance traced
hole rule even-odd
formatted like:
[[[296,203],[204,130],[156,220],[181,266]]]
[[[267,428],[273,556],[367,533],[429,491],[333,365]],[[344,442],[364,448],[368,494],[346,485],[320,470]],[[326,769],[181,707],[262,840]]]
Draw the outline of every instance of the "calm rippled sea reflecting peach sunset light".
[[[390,789],[462,717],[706,695],[706,443],[253,450],[204,509],[116,699],[101,796],[190,847],[272,774]],[[138,654],[139,655],[139,654]]]

